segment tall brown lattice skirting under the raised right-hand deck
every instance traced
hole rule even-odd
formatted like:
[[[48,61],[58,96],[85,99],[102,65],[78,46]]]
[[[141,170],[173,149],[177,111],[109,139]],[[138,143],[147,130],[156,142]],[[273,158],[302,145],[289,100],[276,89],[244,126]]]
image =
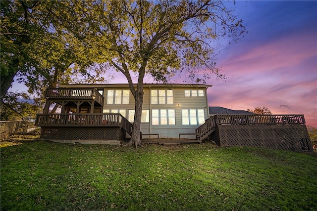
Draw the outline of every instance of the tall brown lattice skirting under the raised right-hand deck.
[[[220,146],[263,147],[300,152],[312,150],[305,125],[219,125],[211,134]]]

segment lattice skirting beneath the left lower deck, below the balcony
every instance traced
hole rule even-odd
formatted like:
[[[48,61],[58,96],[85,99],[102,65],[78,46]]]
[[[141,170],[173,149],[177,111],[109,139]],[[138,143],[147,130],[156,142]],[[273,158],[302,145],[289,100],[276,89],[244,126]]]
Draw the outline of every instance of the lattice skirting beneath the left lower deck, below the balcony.
[[[41,138],[57,140],[122,140],[120,127],[42,127]]]

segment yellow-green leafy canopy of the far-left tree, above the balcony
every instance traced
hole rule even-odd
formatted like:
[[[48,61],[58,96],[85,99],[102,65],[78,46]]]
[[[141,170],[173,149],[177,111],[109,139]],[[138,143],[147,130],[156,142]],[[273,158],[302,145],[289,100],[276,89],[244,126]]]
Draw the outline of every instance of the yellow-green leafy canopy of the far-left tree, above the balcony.
[[[85,53],[89,46],[59,21],[60,10],[67,5],[64,1],[1,1],[1,100],[15,76],[38,96],[58,84],[105,82],[106,69]],[[76,19],[70,21],[75,24]]]

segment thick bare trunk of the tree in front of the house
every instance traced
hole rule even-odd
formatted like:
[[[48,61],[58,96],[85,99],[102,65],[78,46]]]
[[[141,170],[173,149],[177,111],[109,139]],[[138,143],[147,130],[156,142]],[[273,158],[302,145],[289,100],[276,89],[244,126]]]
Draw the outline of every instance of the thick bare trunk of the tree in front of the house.
[[[141,89],[139,89],[138,87],[136,91],[132,137],[130,141],[127,143],[127,146],[134,145],[136,148],[138,148],[138,146],[142,145],[142,137],[141,137],[142,104],[143,104],[143,85]]]

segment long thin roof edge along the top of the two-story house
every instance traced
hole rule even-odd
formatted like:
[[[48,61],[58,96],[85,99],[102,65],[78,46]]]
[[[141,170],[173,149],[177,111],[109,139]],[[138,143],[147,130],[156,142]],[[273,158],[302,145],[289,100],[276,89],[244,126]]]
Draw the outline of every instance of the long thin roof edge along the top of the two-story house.
[[[134,84],[136,86],[137,84]],[[67,85],[59,85],[59,87],[122,87],[122,86],[129,86],[129,84],[67,84]],[[176,87],[211,87],[212,85],[208,84],[144,84],[144,87],[149,86],[176,86]]]

